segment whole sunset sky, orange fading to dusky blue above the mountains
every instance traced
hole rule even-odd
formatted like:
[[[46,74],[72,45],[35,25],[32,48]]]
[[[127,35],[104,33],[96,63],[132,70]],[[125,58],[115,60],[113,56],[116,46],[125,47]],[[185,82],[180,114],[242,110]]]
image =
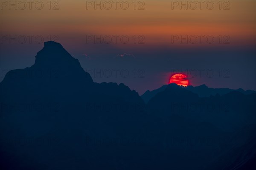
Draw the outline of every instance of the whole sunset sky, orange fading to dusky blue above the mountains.
[[[5,40],[6,35],[42,35],[44,41],[48,41],[50,36],[51,40],[60,42],[73,57],[79,59],[85,71],[92,73],[94,81],[124,82],[140,94],[168,83],[169,77],[176,71],[189,72],[192,85],[256,90],[254,0],[221,1],[221,6],[219,0],[214,0],[211,1],[214,4],[212,10],[206,6],[209,1],[204,1],[202,9],[197,3],[198,8],[194,10],[191,9],[194,7],[192,3],[191,8],[188,5],[186,10],[186,6],[180,9],[179,4],[174,6],[176,1],[168,0],[136,1],[136,10],[133,0],[125,1],[129,4],[127,10],[120,6],[123,1],[117,3],[116,10],[114,3],[110,10],[104,9],[104,6],[101,10],[99,6],[96,9],[87,6],[88,1],[84,0],[52,1],[49,10],[48,1],[41,2],[44,4],[42,10],[35,8],[35,4],[32,4],[31,9],[26,4],[24,10],[19,9],[17,4],[15,10],[15,7],[9,9],[9,4],[6,6],[1,0],[0,80],[6,70],[32,65],[36,52],[43,47],[43,43],[37,43],[35,38],[32,38],[31,43],[27,39],[23,44],[15,44],[13,40]],[[58,10],[52,10],[56,5]],[[211,4],[208,5],[211,7]],[[138,10],[140,6],[144,9]],[[225,7],[228,10],[224,10]],[[127,35],[129,41],[124,44],[118,38],[117,43],[112,39],[110,44],[87,42],[88,35]],[[132,38],[134,35],[136,43]],[[176,35],[188,35],[191,38],[210,35],[215,39],[211,44],[205,38],[202,43],[199,43],[198,38],[195,44],[186,44],[185,41],[180,44],[179,40],[173,40]],[[138,44],[139,40],[144,43]],[[125,53],[132,55],[120,57]],[[101,72],[101,69],[102,75],[93,73]],[[103,72],[108,69],[128,70],[129,76],[106,77]],[[197,76],[194,76],[195,71]],[[210,77],[209,72],[214,72],[214,76]]]

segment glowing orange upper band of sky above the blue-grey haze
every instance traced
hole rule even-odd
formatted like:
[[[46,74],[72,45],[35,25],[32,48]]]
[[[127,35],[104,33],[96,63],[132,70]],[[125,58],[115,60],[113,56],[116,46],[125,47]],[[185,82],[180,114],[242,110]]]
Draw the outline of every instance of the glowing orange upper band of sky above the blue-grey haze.
[[[221,8],[228,5],[229,10],[220,10],[219,1],[216,0],[211,1],[215,5],[212,10],[207,9],[205,3],[202,10],[199,3],[195,10],[186,10],[185,7],[180,10],[179,6],[172,6],[173,1],[167,0],[145,0],[144,3],[137,1],[136,8],[143,5],[144,10],[134,10],[134,1],[126,1],[129,3],[127,10],[120,8],[119,4],[116,10],[113,6],[111,10],[104,9],[104,6],[102,10],[99,7],[95,10],[83,0],[59,0],[58,4],[51,6],[53,8],[58,5],[59,9],[49,10],[46,4],[48,1],[43,2],[42,10],[37,10],[32,4],[31,10],[28,7],[25,10],[15,10],[12,7],[12,12],[9,6],[1,4],[1,34],[57,34],[61,42],[75,40],[77,43],[84,42],[81,37],[87,34],[125,34],[129,37],[136,34],[144,35],[145,44],[152,46],[179,45],[179,41],[172,44],[172,35],[203,34],[213,35],[215,42],[219,35],[229,35],[230,45],[255,43],[254,0],[230,0],[229,4],[222,1]]]

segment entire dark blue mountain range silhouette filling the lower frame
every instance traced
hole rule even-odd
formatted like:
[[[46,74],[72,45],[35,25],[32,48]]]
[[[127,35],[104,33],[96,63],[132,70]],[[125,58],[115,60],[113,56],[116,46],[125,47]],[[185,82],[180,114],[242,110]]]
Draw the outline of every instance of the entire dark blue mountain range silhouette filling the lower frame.
[[[216,91],[169,84],[140,97],[93,82],[61,44],[45,42],[34,65],[0,82],[0,168],[253,167],[256,95]]]

